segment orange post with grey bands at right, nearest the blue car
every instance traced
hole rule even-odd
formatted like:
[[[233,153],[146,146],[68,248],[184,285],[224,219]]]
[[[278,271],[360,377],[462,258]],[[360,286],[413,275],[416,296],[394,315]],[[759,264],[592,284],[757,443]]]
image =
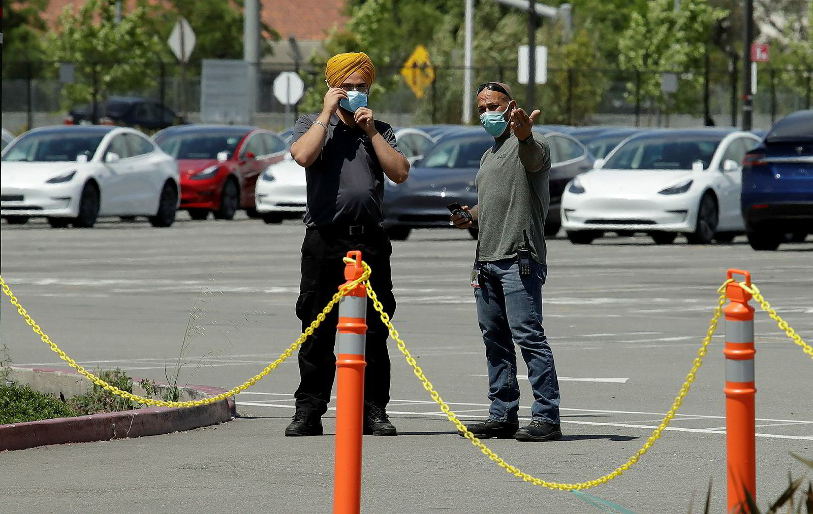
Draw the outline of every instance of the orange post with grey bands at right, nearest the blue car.
[[[728,279],[742,275],[751,285],[751,274],[728,270]],[[746,490],[757,496],[754,398],[754,308],[751,294],[737,283],[725,287],[725,445],[728,474],[728,511],[746,505]]]

